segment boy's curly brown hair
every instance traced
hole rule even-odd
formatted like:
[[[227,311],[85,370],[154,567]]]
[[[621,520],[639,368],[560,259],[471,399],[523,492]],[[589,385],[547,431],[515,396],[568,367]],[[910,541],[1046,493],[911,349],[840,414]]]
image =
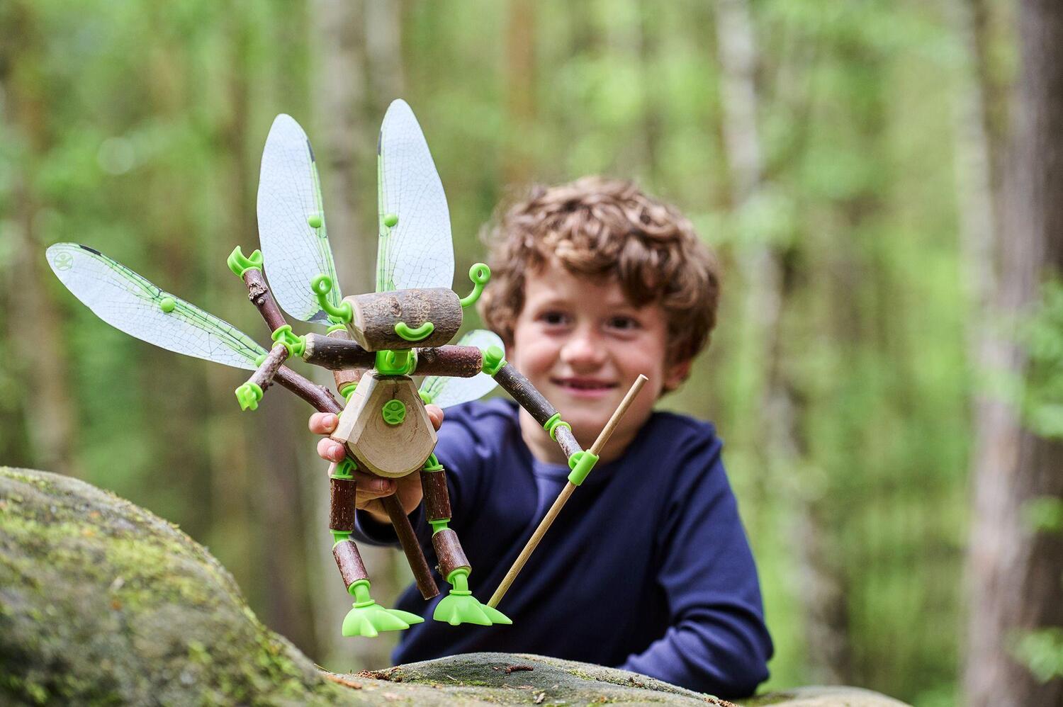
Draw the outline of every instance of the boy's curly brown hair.
[[[491,286],[479,313],[507,344],[524,307],[524,273],[551,259],[573,274],[614,277],[634,306],[660,304],[669,364],[697,355],[716,323],[715,258],[686,217],[631,182],[585,176],[533,187],[485,236]]]

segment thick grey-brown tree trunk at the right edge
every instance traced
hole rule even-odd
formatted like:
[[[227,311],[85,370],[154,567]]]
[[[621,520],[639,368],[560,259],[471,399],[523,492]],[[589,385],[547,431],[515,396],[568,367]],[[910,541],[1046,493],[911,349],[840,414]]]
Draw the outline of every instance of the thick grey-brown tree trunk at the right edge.
[[[1042,280],[1063,271],[1063,5],[1023,2],[1019,37],[1007,229],[995,298],[997,320],[1013,329],[994,342],[993,363],[1023,375],[1028,361],[1015,342],[1015,324],[1036,301]],[[1003,401],[981,405],[977,428],[965,674],[969,704],[1058,705],[1063,679],[1040,684],[1016,661],[1012,647],[1033,629],[1063,625],[1063,539],[1034,533],[1022,519],[1031,499],[1063,498],[1063,442],[1025,428],[1019,411]]]

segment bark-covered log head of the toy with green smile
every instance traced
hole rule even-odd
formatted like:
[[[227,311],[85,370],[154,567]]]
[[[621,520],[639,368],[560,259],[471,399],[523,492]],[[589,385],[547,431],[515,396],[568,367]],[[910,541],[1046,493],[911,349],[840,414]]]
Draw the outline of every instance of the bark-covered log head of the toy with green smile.
[[[369,292],[343,301],[354,315],[347,329],[367,351],[439,347],[461,326],[461,301],[445,287]]]

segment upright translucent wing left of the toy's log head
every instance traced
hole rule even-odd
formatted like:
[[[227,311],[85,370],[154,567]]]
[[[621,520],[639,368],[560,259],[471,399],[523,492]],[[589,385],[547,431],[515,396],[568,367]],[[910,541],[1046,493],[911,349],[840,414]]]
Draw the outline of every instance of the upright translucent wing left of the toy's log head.
[[[258,239],[261,241],[273,297],[284,310],[303,321],[326,322],[310,280],[333,281],[328,301],[342,294],[321,207],[321,182],[314,150],[299,123],[283,113],[273,120],[258,174]]]

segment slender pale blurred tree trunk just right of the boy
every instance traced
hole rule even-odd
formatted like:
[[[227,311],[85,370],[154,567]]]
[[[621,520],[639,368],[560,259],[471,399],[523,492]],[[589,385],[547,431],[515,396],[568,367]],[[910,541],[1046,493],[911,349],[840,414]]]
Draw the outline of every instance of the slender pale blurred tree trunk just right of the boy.
[[[757,129],[757,44],[746,0],[716,3],[716,41],[724,110],[723,136],[731,183],[731,201],[739,228],[741,213],[755,204],[762,188],[764,166]],[[743,351],[749,360],[763,361],[756,373],[752,419],[766,421],[764,485],[775,473],[792,473],[802,466],[805,443],[798,431],[800,406],[782,367],[783,302],[790,296],[783,253],[770,243],[754,241],[737,255],[745,299],[746,331]],[[817,681],[844,683],[849,673],[849,640],[844,583],[830,563],[821,509],[806,499],[796,509],[800,566],[799,592],[804,607],[808,661]]]

